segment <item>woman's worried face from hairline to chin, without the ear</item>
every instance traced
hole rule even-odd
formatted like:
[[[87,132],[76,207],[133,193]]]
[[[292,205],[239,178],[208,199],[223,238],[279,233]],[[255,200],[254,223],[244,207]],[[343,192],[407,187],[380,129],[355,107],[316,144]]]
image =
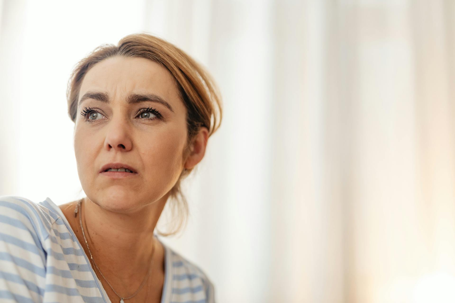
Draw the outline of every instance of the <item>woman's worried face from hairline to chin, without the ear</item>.
[[[187,143],[187,110],[171,73],[144,58],[112,57],[87,72],[79,102],[74,149],[87,197],[124,213],[165,201],[184,167]],[[109,163],[136,173],[100,173]]]

